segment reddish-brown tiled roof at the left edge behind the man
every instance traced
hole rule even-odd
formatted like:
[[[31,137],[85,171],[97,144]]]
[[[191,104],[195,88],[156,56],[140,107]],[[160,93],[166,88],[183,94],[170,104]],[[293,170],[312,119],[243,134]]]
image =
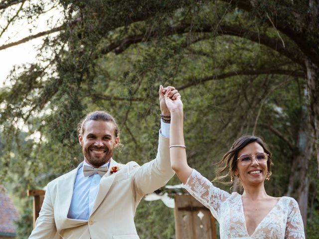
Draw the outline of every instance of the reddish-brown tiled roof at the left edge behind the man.
[[[11,199],[0,185],[0,234],[15,234],[13,221],[19,218]]]

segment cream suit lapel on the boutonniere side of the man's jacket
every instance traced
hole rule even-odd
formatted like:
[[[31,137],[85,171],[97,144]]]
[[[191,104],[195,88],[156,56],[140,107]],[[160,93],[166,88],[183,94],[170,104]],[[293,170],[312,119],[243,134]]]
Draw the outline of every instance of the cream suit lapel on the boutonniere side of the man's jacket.
[[[95,210],[97,210],[97,208],[100,206],[103,199],[105,198],[105,196],[109,192],[109,190],[113,184],[114,178],[115,178],[115,175],[111,174],[111,170],[112,170],[112,167],[117,166],[117,165],[118,165],[118,163],[111,158],[109,170],[101,178],[99,191],[98,191],[98,194],[96,196],[96,199],[95,199],[90,216],[95,212]]]

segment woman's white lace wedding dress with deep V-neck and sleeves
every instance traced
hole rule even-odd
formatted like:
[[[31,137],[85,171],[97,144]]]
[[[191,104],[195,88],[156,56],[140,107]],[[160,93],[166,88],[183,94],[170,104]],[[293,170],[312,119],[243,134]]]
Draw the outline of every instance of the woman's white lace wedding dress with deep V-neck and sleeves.
[[[214,187],[194,169],[183,187],[216,218],[220,239],[305,239],[303,220],[298,203],[293,198],[280,198],[249,236],[240,194],[229,194]]]

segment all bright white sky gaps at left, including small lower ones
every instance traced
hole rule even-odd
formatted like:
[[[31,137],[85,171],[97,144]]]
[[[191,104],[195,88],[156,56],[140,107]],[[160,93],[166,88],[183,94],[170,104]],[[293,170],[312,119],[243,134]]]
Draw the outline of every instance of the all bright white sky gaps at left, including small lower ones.
[[[37,3],[38,0],[25,1],[23,7],[28,7],[29,2]],[[52,8],[51,2],[48,1],[47,8]],[[0,35],[2,29],[7,24],[7,18],[11,17],[16,13],[16,10],[21,6],[21,4],[13,5],[6,11],[0,12]],[[63,19],[61,17],[61,10],[59,7],[52,8],[52,10],[46,11],[38,19],[32,22],[32,25],[27,22],[23,15],[19,15],[21,20],[13,21],[0,36],[0,46],[8,44],[11,42],[18,41],[29,35],[36,34],[45,30],[49,30],[56,25],[59,25],[58,21]],[[50,23],[48,23],[48,21]],[[53,25],[53,26],[52,26]],[[50,36],[56,35],[52,33]],[[21,66],[23,64],[30,64],[36,62],[37,48],[42,44],[43,38],[46,36],[35,38],[33,40],[27,41],[25,43],[9,47],[4,50],[0,50],[0,88],[10,86],[10,81],[7,79],[12,67],[14,65]],[[19,74],[19,72],[15,72]],[[1,107],[1,105],[0,105]],[[18,121],[16,127],[20,127],[24,131],[28,131],[28,128],[22,121]],[[29,135],[29,138],[33,138],[35,141],[39,141],[40,134],[35,132],[33,135]]]

